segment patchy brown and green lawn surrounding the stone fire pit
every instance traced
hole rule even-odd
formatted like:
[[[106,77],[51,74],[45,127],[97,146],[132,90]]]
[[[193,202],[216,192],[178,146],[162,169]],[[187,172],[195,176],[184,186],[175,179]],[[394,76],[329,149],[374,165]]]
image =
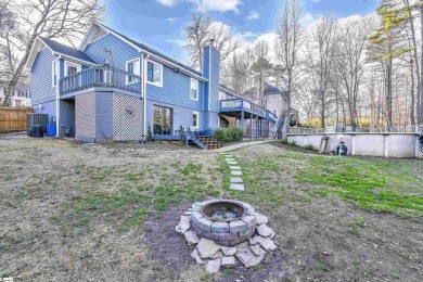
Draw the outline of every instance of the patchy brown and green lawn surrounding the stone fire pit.
[[[418,213],[346,201],[333,192],[342,187],[331,185],[331,179],[312,178],[326,162],[313,161],[316,155],[271,143],[232,154],[245,172],[244,193],[228,190],[227,167],[216,153],[165,144],[85,145],[0,136],[0,277],[16,281],[423,277],[423,225]],[[401,168],[396,192],[421,197],[422,162],[376,161]],[[334,163],[333,169],[338,166]],[[194,265],[192,248],[175,232],[191,203],[220,196],[247,201],[270,218],[280,247],[259,267],[209,275]]]

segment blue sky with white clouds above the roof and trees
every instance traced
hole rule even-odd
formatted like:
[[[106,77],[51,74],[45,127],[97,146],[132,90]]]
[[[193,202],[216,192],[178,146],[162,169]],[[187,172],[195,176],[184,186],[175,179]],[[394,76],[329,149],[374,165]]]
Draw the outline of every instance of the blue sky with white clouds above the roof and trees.
[[[202,11],[246,42],[272,41],[283,0],[104,0],[107,24],[165,54],[188,63],[183,29],[191,12]],[[379,0],[303,0],[303,24],[319,15],[348,17],[375,11]]]

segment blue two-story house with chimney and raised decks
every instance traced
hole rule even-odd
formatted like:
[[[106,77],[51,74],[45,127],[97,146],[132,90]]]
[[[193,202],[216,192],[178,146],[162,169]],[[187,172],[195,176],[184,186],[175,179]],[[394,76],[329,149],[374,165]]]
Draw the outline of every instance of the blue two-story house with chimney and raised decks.
[[[203,65],[196,72],[94,22],[78,49],[37,38],[26,67],[33,107],[49,114],[57,136],[102,142],[151,133],[177,140],[181,127],[209,134],[228,116],[241,128],[255,120],[261,125],[255,137],[268,136],[278,116],[220,85],[220,54],[213,42],[204,48]]]

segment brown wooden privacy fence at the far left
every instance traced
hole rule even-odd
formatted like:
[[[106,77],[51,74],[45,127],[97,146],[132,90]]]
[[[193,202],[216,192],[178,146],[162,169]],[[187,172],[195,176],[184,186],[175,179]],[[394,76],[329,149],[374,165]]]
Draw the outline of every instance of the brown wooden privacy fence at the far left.
[[[3,107],[0,106],[0,133],[26,131],[26,115],[33,113],[31,107]]]

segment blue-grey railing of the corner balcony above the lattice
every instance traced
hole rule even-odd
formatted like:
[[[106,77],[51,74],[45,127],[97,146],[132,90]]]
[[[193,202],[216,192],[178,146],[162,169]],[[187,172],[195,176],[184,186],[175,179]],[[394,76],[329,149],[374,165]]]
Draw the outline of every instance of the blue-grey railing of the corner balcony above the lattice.
[[[66,76],[59,81],[61,95],[92,87],[113,87],[130,92],[141,92],[141,77],[117,67],[90,67]]]

